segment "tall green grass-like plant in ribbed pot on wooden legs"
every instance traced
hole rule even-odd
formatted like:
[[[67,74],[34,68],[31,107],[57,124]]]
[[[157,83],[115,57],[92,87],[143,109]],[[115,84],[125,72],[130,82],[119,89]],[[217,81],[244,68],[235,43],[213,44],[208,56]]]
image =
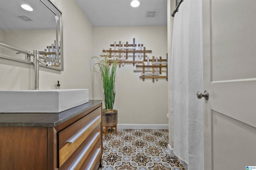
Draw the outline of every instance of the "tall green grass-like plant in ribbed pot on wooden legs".
[[[114,101],[116,97],[116,68],[118,61],[115,58],[110,60],[109,53],[106,55],[100,55],[100,57],[92,57],[98,59],[96,63],[100,69],[101,83],[104,93],[104,105],[105,109],[102,110],[102,126],[105,127],[105,136],[108,127],[115,127],[118,123],[118,111],[113,109]],[[110,62],[111,61],[111,62]],[[117,133],[117,128],[116,128]]]

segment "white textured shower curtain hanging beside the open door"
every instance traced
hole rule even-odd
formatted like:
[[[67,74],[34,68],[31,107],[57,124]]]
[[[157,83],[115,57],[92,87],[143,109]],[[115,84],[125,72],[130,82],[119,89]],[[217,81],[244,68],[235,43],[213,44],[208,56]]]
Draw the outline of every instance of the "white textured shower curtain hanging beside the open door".
[[[204,170],[202,0],[184,0],[174,16],[171,59],[174,154],[188,170]]]

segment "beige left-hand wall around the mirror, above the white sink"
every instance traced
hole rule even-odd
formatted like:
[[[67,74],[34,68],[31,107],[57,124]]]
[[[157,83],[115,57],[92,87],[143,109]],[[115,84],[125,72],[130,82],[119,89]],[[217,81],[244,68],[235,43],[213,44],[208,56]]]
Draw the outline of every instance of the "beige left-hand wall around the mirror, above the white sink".
[[[59,80],[62,89],[91,89],[93,26],[76,0],[55,0],[54,3],[63,12],[64,71],[40,68],[39,88],[54,89]],[[29,43],[30,39],[20,41]],[[32,77],[32,65],[0,59],[0,90],[32,89]],[[91,99],[91,91],[89,97]]]

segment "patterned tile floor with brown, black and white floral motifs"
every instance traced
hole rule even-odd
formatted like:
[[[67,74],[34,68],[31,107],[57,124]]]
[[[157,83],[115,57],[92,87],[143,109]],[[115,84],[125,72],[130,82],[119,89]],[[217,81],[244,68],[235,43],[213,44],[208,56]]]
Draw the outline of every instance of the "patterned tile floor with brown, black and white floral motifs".
[[[103,167],[100,170],[185,170],[168,154],[168,130],[103,130]]]

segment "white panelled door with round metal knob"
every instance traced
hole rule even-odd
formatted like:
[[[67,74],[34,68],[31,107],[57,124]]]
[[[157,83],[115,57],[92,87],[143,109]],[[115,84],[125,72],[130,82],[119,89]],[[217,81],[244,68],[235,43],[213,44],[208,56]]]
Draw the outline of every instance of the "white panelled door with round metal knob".
[[[205,170],[256,166],[256,0],[203,0]]]

